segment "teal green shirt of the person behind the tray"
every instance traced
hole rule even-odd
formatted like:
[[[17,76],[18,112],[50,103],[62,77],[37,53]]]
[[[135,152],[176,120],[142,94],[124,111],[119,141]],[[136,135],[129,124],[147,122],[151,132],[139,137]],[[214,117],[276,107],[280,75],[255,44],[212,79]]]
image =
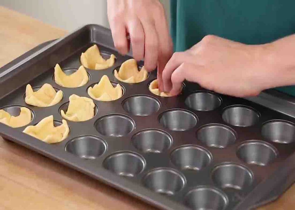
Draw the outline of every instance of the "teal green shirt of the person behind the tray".
[[[245,44],[274,41],[295,33],[294,9],[293,0],[171,0],[174,50],[208,34]],[[295,86],[277,89],[295,96]]]

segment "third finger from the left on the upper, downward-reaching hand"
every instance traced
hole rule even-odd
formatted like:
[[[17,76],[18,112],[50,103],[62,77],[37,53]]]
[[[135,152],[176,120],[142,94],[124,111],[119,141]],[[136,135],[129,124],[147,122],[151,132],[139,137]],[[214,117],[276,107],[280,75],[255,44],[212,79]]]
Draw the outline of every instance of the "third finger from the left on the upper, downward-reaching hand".
[[[157,67],[158,61],[158,35],[153,21],[142,19],[145,33],[145,68],[153,71]]]

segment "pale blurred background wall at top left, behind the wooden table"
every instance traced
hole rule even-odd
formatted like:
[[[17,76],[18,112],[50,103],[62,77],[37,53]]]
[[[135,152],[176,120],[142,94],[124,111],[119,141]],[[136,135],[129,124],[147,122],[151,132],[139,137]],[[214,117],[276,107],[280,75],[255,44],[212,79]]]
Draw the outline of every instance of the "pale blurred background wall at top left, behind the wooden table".
[[[86,24],[109,27],[107,0],[0,0],[1,6],[32,16],[67,31]],[[169,0],[160,0],[169,17]],[[38,29],[36,29],[38,30]]]

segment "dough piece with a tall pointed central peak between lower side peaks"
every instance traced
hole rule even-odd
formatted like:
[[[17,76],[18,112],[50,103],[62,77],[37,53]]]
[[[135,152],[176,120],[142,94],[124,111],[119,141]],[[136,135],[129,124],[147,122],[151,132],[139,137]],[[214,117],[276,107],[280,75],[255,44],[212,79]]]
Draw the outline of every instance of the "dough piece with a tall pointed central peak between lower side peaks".
[[[122,86],[117,84],[114,87],[106,75],[101,77],[98,84],[88,88],[88,95],[98,101],[114,101],[121,98],[122,94]]]

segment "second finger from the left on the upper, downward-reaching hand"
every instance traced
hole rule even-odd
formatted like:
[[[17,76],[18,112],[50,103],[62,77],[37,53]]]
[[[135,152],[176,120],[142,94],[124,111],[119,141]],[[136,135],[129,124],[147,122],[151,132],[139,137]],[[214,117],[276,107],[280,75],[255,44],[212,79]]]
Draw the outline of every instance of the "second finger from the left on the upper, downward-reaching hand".
[[[144,58],[145,34],[138,18],[128,21],[128,31],[133,57],[139,61]]]

